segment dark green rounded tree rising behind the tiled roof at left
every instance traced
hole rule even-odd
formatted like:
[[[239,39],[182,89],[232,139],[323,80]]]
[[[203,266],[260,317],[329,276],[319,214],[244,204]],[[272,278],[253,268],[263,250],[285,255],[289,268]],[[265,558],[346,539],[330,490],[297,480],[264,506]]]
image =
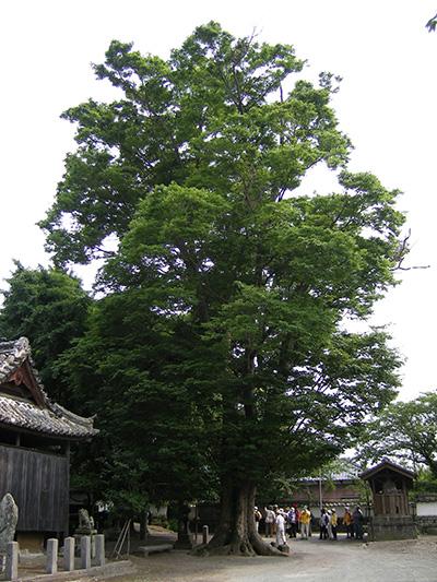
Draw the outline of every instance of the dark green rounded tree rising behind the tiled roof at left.
[[[57,269],[25,269],[20,262],[2,292],[0,335],[28,337],[49,395],[69,405],[71,392],[57,369],[59,356],[84,333],[91,297],[79,278]]]

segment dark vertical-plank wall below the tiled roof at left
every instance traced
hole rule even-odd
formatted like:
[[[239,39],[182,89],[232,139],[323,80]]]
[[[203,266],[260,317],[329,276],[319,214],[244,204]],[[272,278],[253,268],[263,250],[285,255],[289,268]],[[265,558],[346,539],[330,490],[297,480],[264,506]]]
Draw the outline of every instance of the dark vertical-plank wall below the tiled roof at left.
[[[19,507],[19,532],[68,533],[66,456],[0,444],[0,498],[7,492]]]

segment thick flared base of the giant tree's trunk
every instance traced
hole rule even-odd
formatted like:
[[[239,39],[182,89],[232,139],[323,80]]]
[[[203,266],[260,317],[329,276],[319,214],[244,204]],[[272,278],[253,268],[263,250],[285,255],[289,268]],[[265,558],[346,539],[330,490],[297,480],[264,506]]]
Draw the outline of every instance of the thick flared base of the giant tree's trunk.
[[[197,547],[196,554],[234,556],[287,556],[267,544],[256,531],[253,519],[256,488],[251,485],[223,488],[217,530],[209,544]]]

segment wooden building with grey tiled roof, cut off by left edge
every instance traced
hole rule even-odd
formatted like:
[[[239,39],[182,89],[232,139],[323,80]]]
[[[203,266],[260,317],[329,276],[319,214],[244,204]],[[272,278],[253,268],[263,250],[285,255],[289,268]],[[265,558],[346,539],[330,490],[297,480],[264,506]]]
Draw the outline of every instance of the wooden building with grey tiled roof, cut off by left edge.
[[[22,547],[68,534],[70,443],[96,432],[50,401],[26,337],[0,342],[0,499],[10,492],[19,507]]]

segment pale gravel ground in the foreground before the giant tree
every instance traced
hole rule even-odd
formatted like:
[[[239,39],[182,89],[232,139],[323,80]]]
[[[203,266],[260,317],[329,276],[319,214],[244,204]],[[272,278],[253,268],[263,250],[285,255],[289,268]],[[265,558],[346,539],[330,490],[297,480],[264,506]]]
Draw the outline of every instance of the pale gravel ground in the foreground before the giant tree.
[[[114,582],[437,582],[437,536],[416,541],[292,541],[290,558],[199,558],[185,551],[131,558]]]

